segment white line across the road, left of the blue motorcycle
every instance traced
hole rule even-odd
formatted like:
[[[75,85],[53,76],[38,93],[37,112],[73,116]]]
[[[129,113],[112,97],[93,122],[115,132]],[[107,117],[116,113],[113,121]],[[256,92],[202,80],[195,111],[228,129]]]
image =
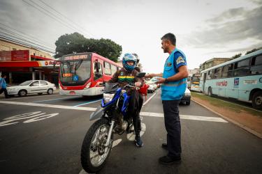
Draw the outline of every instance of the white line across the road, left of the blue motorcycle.
[[[82,111],[96,111],[96,108],[64,106],[64,105],[54,105],[54,104],[40,104],[40,103],[27,103],[27,102],[9,102],[9,101],[0,101],[0,103],[3,103],[3,104],[18,104],[18,105],[26,105],[26,106],[40,106],[40,107],[57,108],[57,109],[74,109],[74,110],[82,110]]]

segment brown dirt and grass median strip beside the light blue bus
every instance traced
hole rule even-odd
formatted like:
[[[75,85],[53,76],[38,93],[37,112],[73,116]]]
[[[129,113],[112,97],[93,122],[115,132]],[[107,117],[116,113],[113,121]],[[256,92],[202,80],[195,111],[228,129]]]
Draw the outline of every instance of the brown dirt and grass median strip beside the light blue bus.
[[[208,97],[198,93],[192,94],[191,100],[194,102],[262,139],[262,111],[255,111],[238,104],[221,101],[215,97]]]

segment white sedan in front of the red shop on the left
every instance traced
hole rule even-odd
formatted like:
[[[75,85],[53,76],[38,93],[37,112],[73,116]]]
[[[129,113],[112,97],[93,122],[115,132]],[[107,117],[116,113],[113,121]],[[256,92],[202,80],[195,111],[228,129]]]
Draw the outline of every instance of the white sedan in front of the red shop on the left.
[[[8,95],[25,96],[27,94],[42,93],[52,94],[57,88],[54,84],[44,80],[29,80],[24,81],[18,86],[10,86],[7,89]]]

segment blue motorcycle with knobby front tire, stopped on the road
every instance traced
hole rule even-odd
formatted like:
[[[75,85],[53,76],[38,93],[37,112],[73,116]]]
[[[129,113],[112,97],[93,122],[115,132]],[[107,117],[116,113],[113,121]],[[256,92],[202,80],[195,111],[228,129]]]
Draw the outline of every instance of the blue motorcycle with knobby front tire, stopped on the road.
[[[142,78],[145,72],[140,72],[136,77]],[[119,88],[118,84],[105,84],[101,108],[92,113],[90,120],[97,120],[89,128],[81,149],[82,168],[87,173],[96,173],[103,168],[112,150],[113,134],[129,132],[133,125],[132,118],[126,116],[129,96],[126,90],[136,88],[128,84]]]

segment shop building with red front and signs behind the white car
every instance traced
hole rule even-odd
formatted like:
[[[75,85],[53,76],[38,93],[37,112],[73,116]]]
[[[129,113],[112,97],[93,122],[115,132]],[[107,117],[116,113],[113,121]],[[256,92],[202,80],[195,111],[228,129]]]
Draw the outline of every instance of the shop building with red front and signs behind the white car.
[[[47,52],[0,39],[0,74],[8,84],[47,80],[58,84],[59,62]]]

